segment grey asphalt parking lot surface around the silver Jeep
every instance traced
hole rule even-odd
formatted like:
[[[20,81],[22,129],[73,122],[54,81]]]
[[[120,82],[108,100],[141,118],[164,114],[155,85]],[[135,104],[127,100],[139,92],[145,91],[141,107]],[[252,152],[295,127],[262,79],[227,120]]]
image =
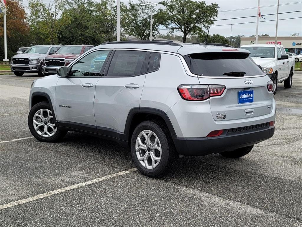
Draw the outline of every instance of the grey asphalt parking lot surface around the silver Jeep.
[[[133,169],[114,142],[75,132],[60,143],[32,138],[37,78],[0,75],[0,226],[302,227],[301,71],[291,89],[278,84],[274,137],[236,160],[182,156],[158,179]]]

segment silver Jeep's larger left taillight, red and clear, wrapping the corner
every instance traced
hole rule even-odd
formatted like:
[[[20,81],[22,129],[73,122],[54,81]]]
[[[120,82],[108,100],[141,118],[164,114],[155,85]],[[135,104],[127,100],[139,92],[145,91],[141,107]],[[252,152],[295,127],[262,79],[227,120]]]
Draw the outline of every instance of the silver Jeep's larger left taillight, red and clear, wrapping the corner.
[[[177,87],[177,90],[184,100],[202,101],[222,95],[225,88],[223,85],[215,84],[182,84]]]

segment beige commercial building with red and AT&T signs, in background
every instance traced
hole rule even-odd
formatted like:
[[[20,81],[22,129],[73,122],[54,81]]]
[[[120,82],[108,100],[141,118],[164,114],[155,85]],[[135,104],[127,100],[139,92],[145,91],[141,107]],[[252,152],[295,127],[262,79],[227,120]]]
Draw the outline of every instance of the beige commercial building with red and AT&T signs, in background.
[[[256,37],[241,37],[240,45],[255,44]],[[258,44],[275,44],[275,36],[258,37]],[[279,36],[277,44],[284,46],[286,52],[302,53],[302,36]]]

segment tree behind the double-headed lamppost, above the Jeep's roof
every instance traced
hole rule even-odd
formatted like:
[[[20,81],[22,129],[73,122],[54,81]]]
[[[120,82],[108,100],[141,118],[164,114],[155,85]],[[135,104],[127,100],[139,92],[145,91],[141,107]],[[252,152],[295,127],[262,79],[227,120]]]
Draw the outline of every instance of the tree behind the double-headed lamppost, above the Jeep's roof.
[[[149,40],[150,38],[150,12],[149,8],[141,6],[146,3],[140,0],[134,4],[129,2],[129,8],[125,9],[122,14],[123,28],[128,35],[135,36],[141,40]],[[159,18],[156,16],[156,9],[153,9],[154,17],[152,23],[152,35],[155,38],[158,33]]]

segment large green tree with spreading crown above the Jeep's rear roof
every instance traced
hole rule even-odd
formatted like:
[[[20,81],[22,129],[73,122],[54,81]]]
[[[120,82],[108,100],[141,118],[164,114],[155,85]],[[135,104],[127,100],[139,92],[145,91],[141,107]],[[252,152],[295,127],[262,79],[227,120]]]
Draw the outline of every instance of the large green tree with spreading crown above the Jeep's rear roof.
[[[188,35],[197,35],[202,27],[214,24],[218,15],[218,4],[206,5],[204,1],[171,0],[159,2],[165,9],[159,9],[157,17],[170,31],[181,31],[182,41],[186,42]]]

